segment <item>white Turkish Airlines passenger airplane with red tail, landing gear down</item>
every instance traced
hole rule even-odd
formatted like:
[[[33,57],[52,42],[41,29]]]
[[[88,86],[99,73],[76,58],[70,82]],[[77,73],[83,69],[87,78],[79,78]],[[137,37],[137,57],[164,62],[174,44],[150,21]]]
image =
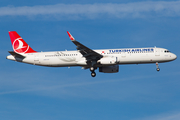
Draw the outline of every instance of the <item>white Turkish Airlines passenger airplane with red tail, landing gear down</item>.
[[[173,61],[177,56],[169,50],[158,47],[123,48],[92,50],[80,42],[67,31],[70,40],[77,46],[75,51],[37,52],[33,50],[16,31],[9,31],[14,51],[8,51],[9,60],[48,67],[80,66],[90,69],[91,76],[95,77],[95,70],[99,72],[117,73],[122,64],[155,63],[156,70],[160,71],[159,64]]]

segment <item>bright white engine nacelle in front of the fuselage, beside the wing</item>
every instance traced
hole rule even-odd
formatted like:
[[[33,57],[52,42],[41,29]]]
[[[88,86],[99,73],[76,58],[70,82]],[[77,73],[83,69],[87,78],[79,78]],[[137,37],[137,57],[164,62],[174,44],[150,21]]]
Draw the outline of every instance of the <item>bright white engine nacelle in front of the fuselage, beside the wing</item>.
[[[103,65],[117,64],[117,63],[118,63],[118,58],[117,58],[117,57],[114,57],[114,56],[111,56],[111,57],[103,57],[103,58],[101,58],[100,60],[98,60],[98,62],[99,62],[100,64],[103,64]]]

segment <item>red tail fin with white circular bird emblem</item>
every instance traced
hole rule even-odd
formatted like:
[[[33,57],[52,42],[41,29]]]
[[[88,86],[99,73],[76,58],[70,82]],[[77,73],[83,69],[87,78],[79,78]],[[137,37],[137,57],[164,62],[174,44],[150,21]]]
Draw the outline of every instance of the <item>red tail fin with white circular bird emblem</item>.
[[[9,31],[12,47],[16,53],[34,53],[34,51],[16,31]]]

